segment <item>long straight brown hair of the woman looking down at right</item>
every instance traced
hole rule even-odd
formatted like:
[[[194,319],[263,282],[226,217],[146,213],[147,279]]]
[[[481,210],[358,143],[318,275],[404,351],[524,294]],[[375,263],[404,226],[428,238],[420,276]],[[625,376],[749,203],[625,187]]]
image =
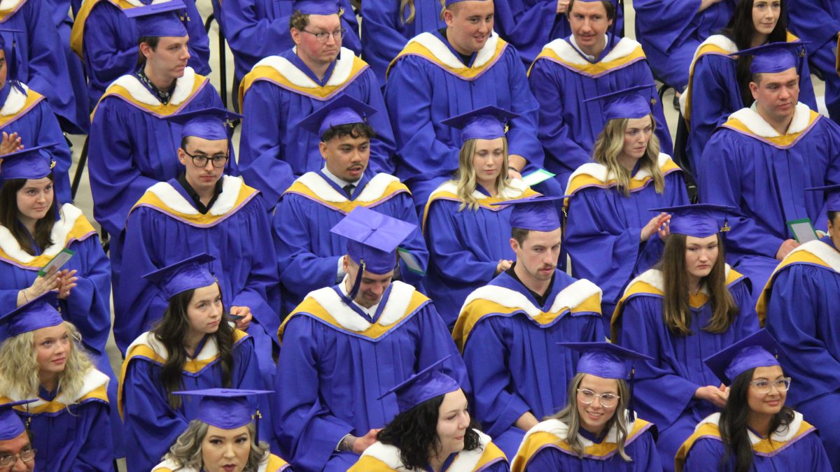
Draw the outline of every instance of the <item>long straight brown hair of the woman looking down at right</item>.
[[[727,287],[726,261],[723,240],[717,235],[717,260],[711,272],[701,280],[709,291],[711,320],[703,327],[708,333],[725,333],[738,316],[738,305]],[[660,263],[664,281],[662,314],[665,325],[677,336],[689,336],[691,309],[689,306],[688,270],[685,266],[685,235],[671,234],[665,241]]]

